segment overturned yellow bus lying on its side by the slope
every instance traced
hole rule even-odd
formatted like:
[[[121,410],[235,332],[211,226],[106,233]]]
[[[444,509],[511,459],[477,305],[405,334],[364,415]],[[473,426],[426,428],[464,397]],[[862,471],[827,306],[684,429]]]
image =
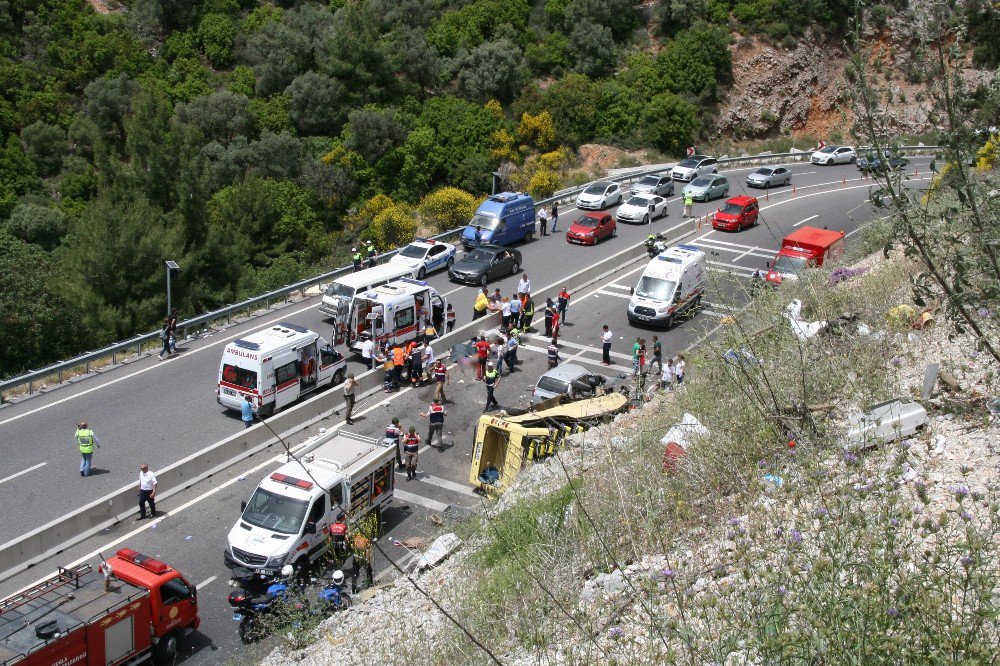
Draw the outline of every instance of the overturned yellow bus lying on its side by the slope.
[[[517,416],[480,417],[469,483],[486,493],[502,493],[529,462],[551,456],[569,435],[610,421],[628,406],[621,393],[574,402],[564,399],[551,398],[536,405],[535,411]]]

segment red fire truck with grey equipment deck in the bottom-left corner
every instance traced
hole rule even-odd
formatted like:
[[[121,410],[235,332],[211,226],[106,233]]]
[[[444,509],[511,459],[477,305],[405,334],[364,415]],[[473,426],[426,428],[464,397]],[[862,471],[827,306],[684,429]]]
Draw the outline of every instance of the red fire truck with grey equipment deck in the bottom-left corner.
[[[172,663],[198,628],[198,594],[159,560],[122,548],[0,601],[0,664]]]

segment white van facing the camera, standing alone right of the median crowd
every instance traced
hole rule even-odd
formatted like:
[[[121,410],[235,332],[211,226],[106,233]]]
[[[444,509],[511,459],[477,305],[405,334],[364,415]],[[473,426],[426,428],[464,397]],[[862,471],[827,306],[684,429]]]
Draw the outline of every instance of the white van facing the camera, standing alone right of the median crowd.
[[[670,328],[678,315],[701,303],[706,275],[705,253],[694,245],[677,245],[656,255],[632,289],[629,322]]]

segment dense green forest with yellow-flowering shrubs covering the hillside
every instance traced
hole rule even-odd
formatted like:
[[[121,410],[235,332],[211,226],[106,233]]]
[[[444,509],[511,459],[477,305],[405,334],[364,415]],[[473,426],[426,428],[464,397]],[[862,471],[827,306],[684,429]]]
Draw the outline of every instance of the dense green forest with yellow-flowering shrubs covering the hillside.
[[[501,165],[547,195],[583,142],[676,154],[733,30],[853,4],[0,0],[0,376],[154,328],[167,259],[183,318],[452,226]]]

